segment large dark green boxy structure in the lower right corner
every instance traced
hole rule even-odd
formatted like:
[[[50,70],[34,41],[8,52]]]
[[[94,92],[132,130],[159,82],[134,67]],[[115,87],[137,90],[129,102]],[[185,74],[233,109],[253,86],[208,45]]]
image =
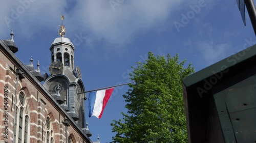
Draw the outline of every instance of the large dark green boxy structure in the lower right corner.
[[[247,143],[256,136],[256,45],[183,80],[189,143]]]

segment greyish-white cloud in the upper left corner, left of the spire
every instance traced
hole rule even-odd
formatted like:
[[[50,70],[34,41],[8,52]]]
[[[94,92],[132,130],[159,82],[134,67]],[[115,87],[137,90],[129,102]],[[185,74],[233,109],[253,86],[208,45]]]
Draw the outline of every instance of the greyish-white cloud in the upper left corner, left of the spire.
[[[17,0],[2,2],[0,5],[1,37],[10,33],[20,33],[24,37],[44,31],[57,25],[65,1]],[[59,23],[58,23],[59,24]]]

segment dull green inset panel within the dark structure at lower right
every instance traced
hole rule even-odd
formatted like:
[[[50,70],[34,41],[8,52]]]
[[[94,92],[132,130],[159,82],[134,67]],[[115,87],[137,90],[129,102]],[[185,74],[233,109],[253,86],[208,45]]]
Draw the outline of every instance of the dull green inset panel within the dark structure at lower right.
[[[226,142],[256,141],[256,77],[253,75],[214,95]]]

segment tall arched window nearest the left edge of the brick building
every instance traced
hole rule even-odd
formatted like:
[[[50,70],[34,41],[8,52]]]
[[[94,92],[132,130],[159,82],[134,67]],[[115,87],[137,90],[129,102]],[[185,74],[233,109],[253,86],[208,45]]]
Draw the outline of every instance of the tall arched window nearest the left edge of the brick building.
[[[19,93],[16,99],[15,121],[14,121],[14,142],[28,142],[29,136],[29,107],[23,92]]]

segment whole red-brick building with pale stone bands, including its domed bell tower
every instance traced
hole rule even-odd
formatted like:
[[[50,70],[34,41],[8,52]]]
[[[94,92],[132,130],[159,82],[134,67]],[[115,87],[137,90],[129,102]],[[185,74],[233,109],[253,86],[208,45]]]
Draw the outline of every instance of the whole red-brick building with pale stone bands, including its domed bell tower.
[[[72,42],[60,37],[50,47],[50,75],[25,66],[11,39],[0,40],[0,142],[92,142],[84,117],[84,85],[74,67]],[[44,81],[44,84],[41,82]],[[98,141],[99,142],[99,141]]]

